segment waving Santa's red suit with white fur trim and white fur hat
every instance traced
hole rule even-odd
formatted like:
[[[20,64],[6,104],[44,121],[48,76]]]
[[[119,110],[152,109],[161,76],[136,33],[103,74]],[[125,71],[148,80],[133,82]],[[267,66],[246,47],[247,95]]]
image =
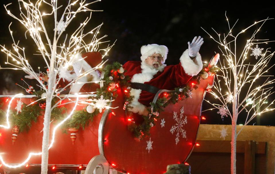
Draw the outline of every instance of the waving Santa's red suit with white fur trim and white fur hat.
[[[150,68],[145,63],[145,59],[154,53],[159,53],[163,56],[163,66],[158,70]],[[124,75],[130,76],[130,82],[149,84],[159,89],[174,90],[174,88],[186,84],[192,76],[197,75],[202,69],[202,59],[199,53],[192,60],[188,55],[187,49],[180,57],[179,64],[166,66],[164,62],[167,53],[168,49],[163,45],[151,44],[143,46],[141,48],[142,62],[126,62],[123,65],[123,68],[127,70]],[[150,106],[155,94],[133,88],[130,94],[134,96],[132,101],[133,109],[131,111],[140,115],[146,115],[148,113],[146,107]]]

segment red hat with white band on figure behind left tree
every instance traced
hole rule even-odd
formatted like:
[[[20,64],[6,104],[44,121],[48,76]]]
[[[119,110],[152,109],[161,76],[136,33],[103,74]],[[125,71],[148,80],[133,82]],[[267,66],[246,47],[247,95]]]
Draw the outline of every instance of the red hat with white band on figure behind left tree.
[[[82,63],[82,68],[85,71],[90,70],[91,68],[96,67],[100,62],[102,61],[102,55],[100,52],[86,52],[83,53],[81,56],[79,55],[79,59],[81,60]]]

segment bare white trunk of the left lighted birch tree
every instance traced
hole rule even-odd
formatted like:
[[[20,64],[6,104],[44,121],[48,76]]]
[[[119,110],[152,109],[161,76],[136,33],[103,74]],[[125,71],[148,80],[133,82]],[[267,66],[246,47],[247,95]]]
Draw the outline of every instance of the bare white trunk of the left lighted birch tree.
[[[50,137],[50,115],[51,115],[51,95],[53,92],[53,87],[55,84],[55,73],[54,73],[54,60],[56,52],[56,42],[54,40],[52,56],[50,60],[50,72],[48,80],[48,93],[46,98],[46,109],[44,115],[44,128],[43,128],[43,141],[42,141],[42,156],[41,156],[41,174],[47,174],[48,172],[48,147],[49,147],[49,137]]]

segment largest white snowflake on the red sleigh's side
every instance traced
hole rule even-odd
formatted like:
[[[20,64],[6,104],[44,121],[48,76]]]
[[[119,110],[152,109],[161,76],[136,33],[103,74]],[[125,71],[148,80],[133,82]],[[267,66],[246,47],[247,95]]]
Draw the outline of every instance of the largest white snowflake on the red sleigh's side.
[[[174,111],[173,113],[173,119],[175,120],[175,124],[171,127],[170,132],[173,134],[174,132],[177,132],[175,143],[178,145],[180,141],[180,133],[182,135],[182,138],[186,137],[186,130],[184,130],[183,126],[187,124],[187,116],[183,119],[183,113],[184,113],[184,107],[180,109],[180,118],[178,118],[177,112]]]

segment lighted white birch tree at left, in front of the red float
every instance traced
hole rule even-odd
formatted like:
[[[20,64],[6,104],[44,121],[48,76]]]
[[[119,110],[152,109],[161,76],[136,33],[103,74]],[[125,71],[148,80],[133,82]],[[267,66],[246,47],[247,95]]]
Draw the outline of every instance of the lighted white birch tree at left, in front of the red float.
[[[97,0],[100,1],[100,0]],[[97,38],[99,29],[102,26],[99,25],[92,30],[86,32],[84,30],[88,22],[91,19],[92,11],[89,9],[89,5],[97,2],[86,0],[76,0],[71,2],[70,0],[66,2],[66,6],[61,5],[61,2],[58,3],[58,0],[38,0],[36,3],[31,1],[18,0],[20,15],[17,17],[13,15],[12,11],[8,9],[8,6],[11,4],[4,5],[7,13],[19,21],[26,29],[25,37],[31,38],[36,44],[36,48],[32,50],[26,50],[22,45],[19,44],[19,41],[16,41],[13,37],[13,32],[11,30],[11,24],[9,25],[9,31],[12,37],[12,47],[11,49],[5,45],[1,45],[1,51],[6,54],[5,67],[0,66],[0,69],[12,69],[12,70],[22,70],[26,72],[33,79],[37,80],[39,86],[46,91],[46,109],[44,115],[44,128],[43,128],[43,141],[42,141],[42,166],[41,173],[46,174],[48,170],[48,149],[52,146],[52,142],[49,142],[49,130],[50,130],[50,114],[51,111],[58,104],[51,107],[51,101],[54,97],[59,97],[59,93],[63,91],[68,86],[77,82],[78,79],[86,76],[87,74],[95,71],[97,68],[101,68],[106,61],[102,61],[95,68],[91,68],[86,72],[76,73],[71,82],[64,88],[58,88],[58,83],[62,80],[61,74],[64,71],[68,71],[68,67],[75,63],[79,59],[79,55],[82,51],[101,51],[103,52],[103,57],[107,55],[107,52],[113,45],[108,45],[104,49],[100,49],[99,46],[103,43],[101,40],[106,37],[106,35]],[[65,1],[63,1],[65,2]],[[89,12],[87,18],[82,23],[74,24],[71,23],[72,20],[79,15],[79,13]],[[44,18],[47,17],[47,20]],[[54,22],[54,28],[49,28],[46,21],[49,21],[51,18]],[[65,29],[70,27],[79,27],[72,34],[64,34]],[[62,36],[64,35],[64,36]],[[61,37],[62,36],[62,37]],[[87,42],[88,41],[88,42]],[[106,41],[108,42],[108,41]],[[37,76],[36,68],[28,62],[28,58],[25,52],[35,52],[36,55],[44,60],[43,67],[48,68],[48,87],[43,83],[43,80]],[[85,82],[84,82],[85,83]],[[60,98],[64,100],[67,97]],[[66,118],[68,119],[68,117]],[[63,120],[65,121],[65,120]],[[26,160],[27,161],[27,160]],[[26,163],[26,161],[24,163]],[[13,168],[24,165],[24,163],[11,166]]]

